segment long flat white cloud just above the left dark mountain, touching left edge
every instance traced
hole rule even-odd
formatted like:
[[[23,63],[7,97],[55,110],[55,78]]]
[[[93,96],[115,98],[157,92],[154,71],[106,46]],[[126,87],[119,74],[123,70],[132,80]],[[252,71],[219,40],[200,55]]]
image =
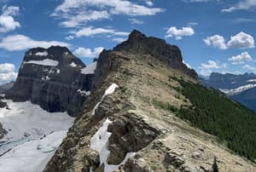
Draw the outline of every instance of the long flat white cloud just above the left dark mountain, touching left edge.
[[[58,42],[58,41],[35,41],[25,35],[12,35],[3,37],[0,42],[0,48],[7,49],[9,51],[20,51],[23,49],[31,49],[34,47],[49,48],[52,45],[60,45],[69,47],[70,44]]]

